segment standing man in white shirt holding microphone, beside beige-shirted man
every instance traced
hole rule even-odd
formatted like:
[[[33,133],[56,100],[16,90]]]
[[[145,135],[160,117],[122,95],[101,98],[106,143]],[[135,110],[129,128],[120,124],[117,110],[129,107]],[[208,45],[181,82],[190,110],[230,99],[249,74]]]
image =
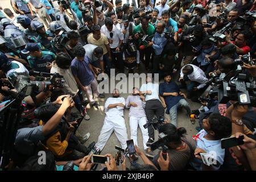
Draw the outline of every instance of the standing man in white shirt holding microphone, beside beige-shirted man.
[[[105,24],[101,27],[101,33],[105,34],[109,40],[111,50],[112,63],[119,73],[123,73],[123,59],[122,59],[122,44],[123,34],[121,30],[114,25],[113,19],[110,17],[105,18]]]

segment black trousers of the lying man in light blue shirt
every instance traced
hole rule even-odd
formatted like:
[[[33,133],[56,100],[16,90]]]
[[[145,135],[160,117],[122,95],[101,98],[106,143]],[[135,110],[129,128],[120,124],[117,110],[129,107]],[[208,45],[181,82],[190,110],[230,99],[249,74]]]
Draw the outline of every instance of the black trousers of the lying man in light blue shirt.
[[[150,122],[154,115],[156,115],[156,117],[164,115],[164,107],[158,99],[149,100],[146,101],[145,112],[147,116],[147,122]],[[155,140],[155,132],[152,125],[148,126],[148,135],[150,138]]]

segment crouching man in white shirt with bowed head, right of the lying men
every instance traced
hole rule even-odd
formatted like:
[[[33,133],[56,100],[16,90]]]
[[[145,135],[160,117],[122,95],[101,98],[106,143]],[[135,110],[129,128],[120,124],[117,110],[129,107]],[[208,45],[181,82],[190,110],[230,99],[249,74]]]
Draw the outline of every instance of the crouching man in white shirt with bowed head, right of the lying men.
[[[190,80],[190,84],[187,85],[187,98],[191,98],[191,96],[195,96],[197,98],[197,94],[203,92],[205,86],[207,85],[205,82],[208,81],[208,78],[205,76],[204,71],[199,67],[193,64],[187,64],[183,68],[181,68],[179,81],[181,82],[181,86],[184,87],[185,81]]]

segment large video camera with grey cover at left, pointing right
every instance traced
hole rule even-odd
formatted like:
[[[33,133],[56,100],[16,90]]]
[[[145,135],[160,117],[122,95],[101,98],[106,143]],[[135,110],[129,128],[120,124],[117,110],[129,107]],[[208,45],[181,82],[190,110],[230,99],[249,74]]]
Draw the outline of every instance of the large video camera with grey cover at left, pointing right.
[[[30,71],[30,75],[39,76],[36,76],[35,81],[31,81],[30,77],[26,73],[13,72],[8,76],[17,92],[23,96],[30,96],[33,90],[43,92],[47,90],[49,85],[53,85],[59,88],[63,88],[65,85],[65,80],[63,79],[63,76],[59,75],[59,73],[51,74]],[[50,76],[52,76],[52,78]]]

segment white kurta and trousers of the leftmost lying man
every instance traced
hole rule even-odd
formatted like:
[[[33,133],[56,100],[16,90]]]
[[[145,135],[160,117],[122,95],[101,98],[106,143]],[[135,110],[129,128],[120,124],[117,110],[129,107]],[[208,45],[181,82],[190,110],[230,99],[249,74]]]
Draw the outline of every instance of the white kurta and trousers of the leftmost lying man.
[[[100,136],[98,137],[98,142],[96,143],[96,147],[102,149],[104,148],[106,142],[110,135],[115,133],[119,142],[121,143],[122,148],[126,148],[126,140],[127,138],[127,130],[125,126],[125,119],[123,118],[123,107],[117,106],[111,109],[108,109],[110,104],[122,103],[125,105],[125,98],[118,97],[113,98],[110,97],[105,102],[105,114],[106,117],[104,119],[104,125],[102,126]]]

